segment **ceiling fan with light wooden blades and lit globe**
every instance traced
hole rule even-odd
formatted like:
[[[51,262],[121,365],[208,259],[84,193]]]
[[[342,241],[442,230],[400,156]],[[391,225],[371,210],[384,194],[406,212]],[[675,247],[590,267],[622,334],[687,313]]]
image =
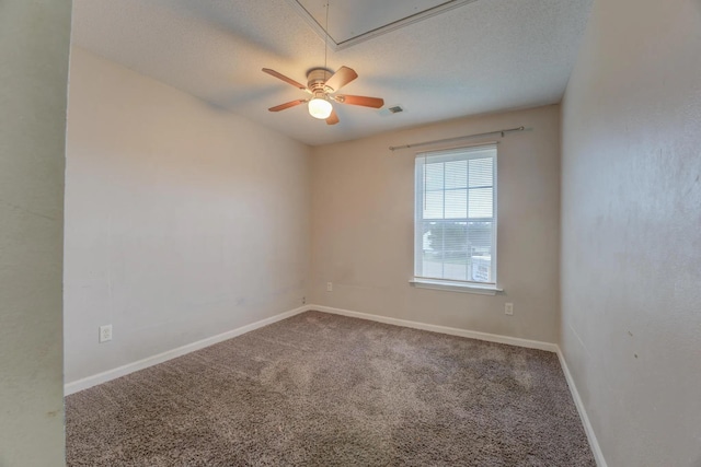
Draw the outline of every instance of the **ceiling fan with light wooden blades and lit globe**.
[[[348,67],[341,67],[335,73],[331,73],[325,68],[314,68],[307,73],[306,86],[269,68],[264,68],[263,71],[311,95],[311,97],[308,98],[290,101],[271,107],[268,108],[271,112],[280,112],[295,107],[296,105],[309,103],[309,114],[311,114],[312,117],[326,120],[326,125],[336,125],[338,122],[338,116],[333,109],[331,101],[340,104],[360,105],[372,108],[380,108],[384,105],[384,101],[379,97],[335,94],[341,87],[358,78],[358,73]]]

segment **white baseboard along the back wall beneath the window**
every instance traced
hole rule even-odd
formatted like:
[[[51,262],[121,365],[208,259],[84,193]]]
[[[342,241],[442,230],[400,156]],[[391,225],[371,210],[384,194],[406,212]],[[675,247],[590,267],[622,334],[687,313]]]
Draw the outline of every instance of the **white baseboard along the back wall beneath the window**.
[[[406,319],[390,318],[380,315],[370,315],[368,313],[352,312],[349,310],[332,308],[330,306],[310,305],[309,310],[317,310],[334,315],[350,316],[354,318],[369,319],[372,322],[384,323],[388,325],[410,327],[414,329],[429,330],[433,332],[447,334],[450,336],[468,337],[470,339],[486,340],[487,342],[506,343],[509,346],[525,347],[528,349],[545,350],[548,352],[558,352],[558,345],[551,342],[542,342],[539,340],[520,339],[517,337],[499,336],[497,334],[480,332],[476,330],[459,329],[447,326],[428,325],[425,323],[410,322]]]

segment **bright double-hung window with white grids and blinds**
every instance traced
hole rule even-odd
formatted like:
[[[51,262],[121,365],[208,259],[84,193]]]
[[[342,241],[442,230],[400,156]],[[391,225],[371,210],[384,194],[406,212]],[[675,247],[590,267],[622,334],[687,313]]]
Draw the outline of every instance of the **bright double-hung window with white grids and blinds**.
[[[496,290],[496,145],[416,155],[415,284]]]

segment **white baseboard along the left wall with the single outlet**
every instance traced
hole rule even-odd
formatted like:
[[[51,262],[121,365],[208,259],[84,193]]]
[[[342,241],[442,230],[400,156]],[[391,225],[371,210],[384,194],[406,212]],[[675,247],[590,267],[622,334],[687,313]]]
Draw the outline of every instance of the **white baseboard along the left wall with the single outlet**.
[[[252,323],[250,325],[241,326],[240,328],[232,329],[227,332],[219,334],[217,336],[208,337],[203,340],[198,340],[197,342],[188,343],[183,347],[179,347],[177,349],[169,350],[163,353],[159,353],[158,355],[148,357],[143,360],[139,360],[133,363],[127,363],[126,365],[107,370],[106,372],[97,373],[92,376],[84,377],[82,380],[73,381],[71,383],[67,383],[64,385],[64,395],[68,396],[70,394],[78,393],[83,389],[88,389],[89,387],[96,386],[102,383],[106,383],[111,380],[118,378],[120,376],[128,375],[129,373],[137,372],[139,370],[147,369],[149,366],[163,363],[176,357],[182,357],[186,353],[194,352],[195,350],[204,349],[205,347],[212,346],[215,343],[222,342],[225,340],[231,339],[232,337],[241,336],[242,334],[250,332],[254,329],[262,328],[267,325],[272,325],[273,323],[279,322],[281,319],[289,318],[291,316],[298,315],[300,313],[309,311],[309,306],[301,306],[296,310],[290,310],[289,312],[280,313],[279,315],[271,316],[269,318],[261,319],[260,322]]]

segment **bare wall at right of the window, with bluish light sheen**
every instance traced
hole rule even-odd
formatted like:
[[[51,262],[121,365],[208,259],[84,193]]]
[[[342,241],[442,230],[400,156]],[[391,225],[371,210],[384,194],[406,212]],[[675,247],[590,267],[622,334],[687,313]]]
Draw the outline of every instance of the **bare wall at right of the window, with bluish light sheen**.
[[[562,348],[609,466],[701,466],[701,2],[596,0],[563,105]]]

